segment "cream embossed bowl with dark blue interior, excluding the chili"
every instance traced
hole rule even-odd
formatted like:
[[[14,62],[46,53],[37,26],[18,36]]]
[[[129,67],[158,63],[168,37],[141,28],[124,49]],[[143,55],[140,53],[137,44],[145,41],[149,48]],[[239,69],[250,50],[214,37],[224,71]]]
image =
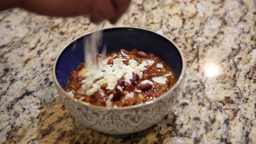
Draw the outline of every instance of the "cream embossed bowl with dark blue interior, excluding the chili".
[[[185,75],[186,62],[182,52],[168,38],[141,28],[109,28],[103,30],[103,43],[108,51],[131,50],[134,47],[153,52],[174,70],[177,82],[161,97],[141,105],[106,108],[90,105],[70,97],[65,92],[68,73],[83,62],[83,38],[77,38],[65,47],[54,64],[54,84],[61,100],[78,121],[85,126],[108,134],[127,134],[142,131],[166,116],[179,96]]]

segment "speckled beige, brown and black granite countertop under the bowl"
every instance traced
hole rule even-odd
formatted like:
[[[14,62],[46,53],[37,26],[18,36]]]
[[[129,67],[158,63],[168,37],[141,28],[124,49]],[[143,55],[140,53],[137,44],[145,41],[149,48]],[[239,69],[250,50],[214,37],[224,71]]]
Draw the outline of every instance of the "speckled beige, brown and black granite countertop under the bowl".
[[[55,58],[92,30],[89,20],[1,12],[0,143],[256,143],[255,3],[133,1],[116,26],[172,39],[185,54],[187,75],[168,116],[120,136],[75,122],[53,86]]]

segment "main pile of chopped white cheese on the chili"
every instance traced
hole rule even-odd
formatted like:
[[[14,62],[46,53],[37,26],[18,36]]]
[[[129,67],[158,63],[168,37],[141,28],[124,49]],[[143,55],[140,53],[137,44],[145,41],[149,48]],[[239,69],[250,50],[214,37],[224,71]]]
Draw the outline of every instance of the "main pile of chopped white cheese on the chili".
[[[123,51],[121,51],[121,53],[124,57],[129,57],[129,55],[125,54]],[[107,84],[107,90],[114,90],[117,81],[122,77],[124,77],[126,83],[131,84],[130,80],[133,78],[133,73],[137,74],[141,79],[143,76],[142,71],[145,70],[147,66],[151,66],[155,63],[154,60],[143,60],[142,63],[139,63],[131,59],[129,60],[129,65],[125,65],[123,61],[126,59],[115,57],[116,55],[103,59],[98,65],[87,63],[86,67],[81,70],[81,76],[85,78],[82,81],[82,87],[86,90],[86,95],[93,95],[103,84]],[[115,58],[113,59],[113,65],[108,65],[108,60],[111,58]],[[147,82],[147,80],[145,81]],[[151,81],[148,83],[153,84]],[[123,90],[120,86],[117,86],[117,89],[120,91]]]

